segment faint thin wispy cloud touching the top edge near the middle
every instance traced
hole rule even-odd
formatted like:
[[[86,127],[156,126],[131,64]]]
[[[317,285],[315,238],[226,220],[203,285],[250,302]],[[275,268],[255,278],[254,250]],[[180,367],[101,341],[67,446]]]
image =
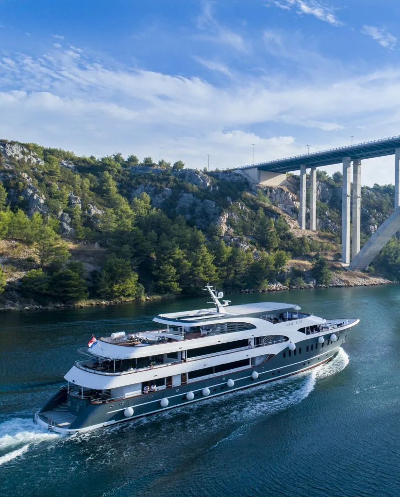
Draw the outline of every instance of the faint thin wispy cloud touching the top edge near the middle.
[[[217,22],[212,14],[211,2],[205,3],[203,12],[197,18],[196,25],[204,31],[203,39],[230,45],[240,52],[246,52],[246,46],[242,36],[235,33]]]

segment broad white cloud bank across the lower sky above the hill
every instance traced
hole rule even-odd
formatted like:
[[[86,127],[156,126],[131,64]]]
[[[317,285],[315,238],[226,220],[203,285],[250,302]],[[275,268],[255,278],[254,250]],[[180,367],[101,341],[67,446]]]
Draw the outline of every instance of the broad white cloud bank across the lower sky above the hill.
[[[285,46],[282,35],[267,37]],[[247,74],[222,87],[115,68],[74,48],[39,58],[7,54],[0,78],[13,88],[0,92],[0,137],[85,155],[121,151],[202,168],[209,153],[210,165],[224,168],[250,163],[251,143],[259,162],[307,152],[307,143],[313,150],[343,145],[354,129],[365,141],[400,127],[397,68],[330,83]],[[379,181],[372,173],[363,181]]]

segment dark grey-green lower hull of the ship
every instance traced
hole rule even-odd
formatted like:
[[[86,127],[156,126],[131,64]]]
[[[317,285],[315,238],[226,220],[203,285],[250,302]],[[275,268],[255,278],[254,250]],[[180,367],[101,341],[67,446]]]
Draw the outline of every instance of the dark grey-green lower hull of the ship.
[[[289,352],[286,348],[258,366],[126,399],[93,403],[87,399],[79,399],[68,395],[66,390],[64,392],[60,391],[41,411],[35,414],[35,420],[52,431],[64,434],[81,433],[120,422],[131,421],[139,417],[157,414],[175,407],[186,406],[194,402],[207,400],[307,371],[331,360],[338,352],[344,338],[345,334],[343,333],[336,342],[319,347],[317,351],[311,351],[311,344],[316,343],[316,337],[310,336],[310,338],[297,344],[298,352],[296,355],[293,352],[288,357]],[[306,352],[308,345],[310,351]],[[302,353],[299,353],[299,347],[302,347]],[[254,372],[257,374],[255,375]],[[232,385],[232,381],[230,381],[228,385],[228,380],[232,380],[234,384]],[[204,392],[204,389],[209,391],[208,395],[204,395],[204,393],[207,393],[207,390]],[[186,397],[189,392],[193,393],[194,397],[192,400],[188,400]],[[167,406],[161,406],[162,399],[167,399]],[[68,405],[68,413],[72,416],[70,419],[71,422],[64,423],[64,426],[63,423],[56,424],[49,422],[49,417],[48,415],[46,417],[45,414],[62,400]],[[163,403],[165,404],[165,401]],[[125,410],[127,408],[133,409],[134,414],[132,416],[126,417]],[[66,426],[67,424],[68,426]]]

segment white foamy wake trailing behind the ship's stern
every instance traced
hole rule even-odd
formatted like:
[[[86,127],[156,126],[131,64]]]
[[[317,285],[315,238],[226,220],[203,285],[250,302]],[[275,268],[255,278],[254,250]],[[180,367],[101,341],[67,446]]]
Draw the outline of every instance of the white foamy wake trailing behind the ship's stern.
[[[59,438],[31,419],[15,417],[0,423],[0,466],[22,456],[31,446]]]

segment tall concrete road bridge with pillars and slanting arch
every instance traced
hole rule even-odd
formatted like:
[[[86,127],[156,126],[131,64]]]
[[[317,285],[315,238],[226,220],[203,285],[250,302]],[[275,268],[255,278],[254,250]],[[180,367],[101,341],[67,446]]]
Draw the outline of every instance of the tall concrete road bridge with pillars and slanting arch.
[[[361,216],[361,161],[375,157],[395,156],[395,211],[382,223],[368,242],[360,249]],[[351,191],[351,163],[353,185]],[[373,142],[358,143],[350,147],[322,150],[276,161],[242,166],[237,170],[250,181],[265,186],[279,186],[286,180],[286,173],[300,169],[299,225],[306,229],[306,171],[310,169],[310,230],[316,230],[317,216],[317,167],[342,164],[342,262],[349,269],[365,269],[380,250],[400,229],[400,136]],[[350,213],[351,199],[353,200]],[[350,261],[350,214],[353,221]]]

